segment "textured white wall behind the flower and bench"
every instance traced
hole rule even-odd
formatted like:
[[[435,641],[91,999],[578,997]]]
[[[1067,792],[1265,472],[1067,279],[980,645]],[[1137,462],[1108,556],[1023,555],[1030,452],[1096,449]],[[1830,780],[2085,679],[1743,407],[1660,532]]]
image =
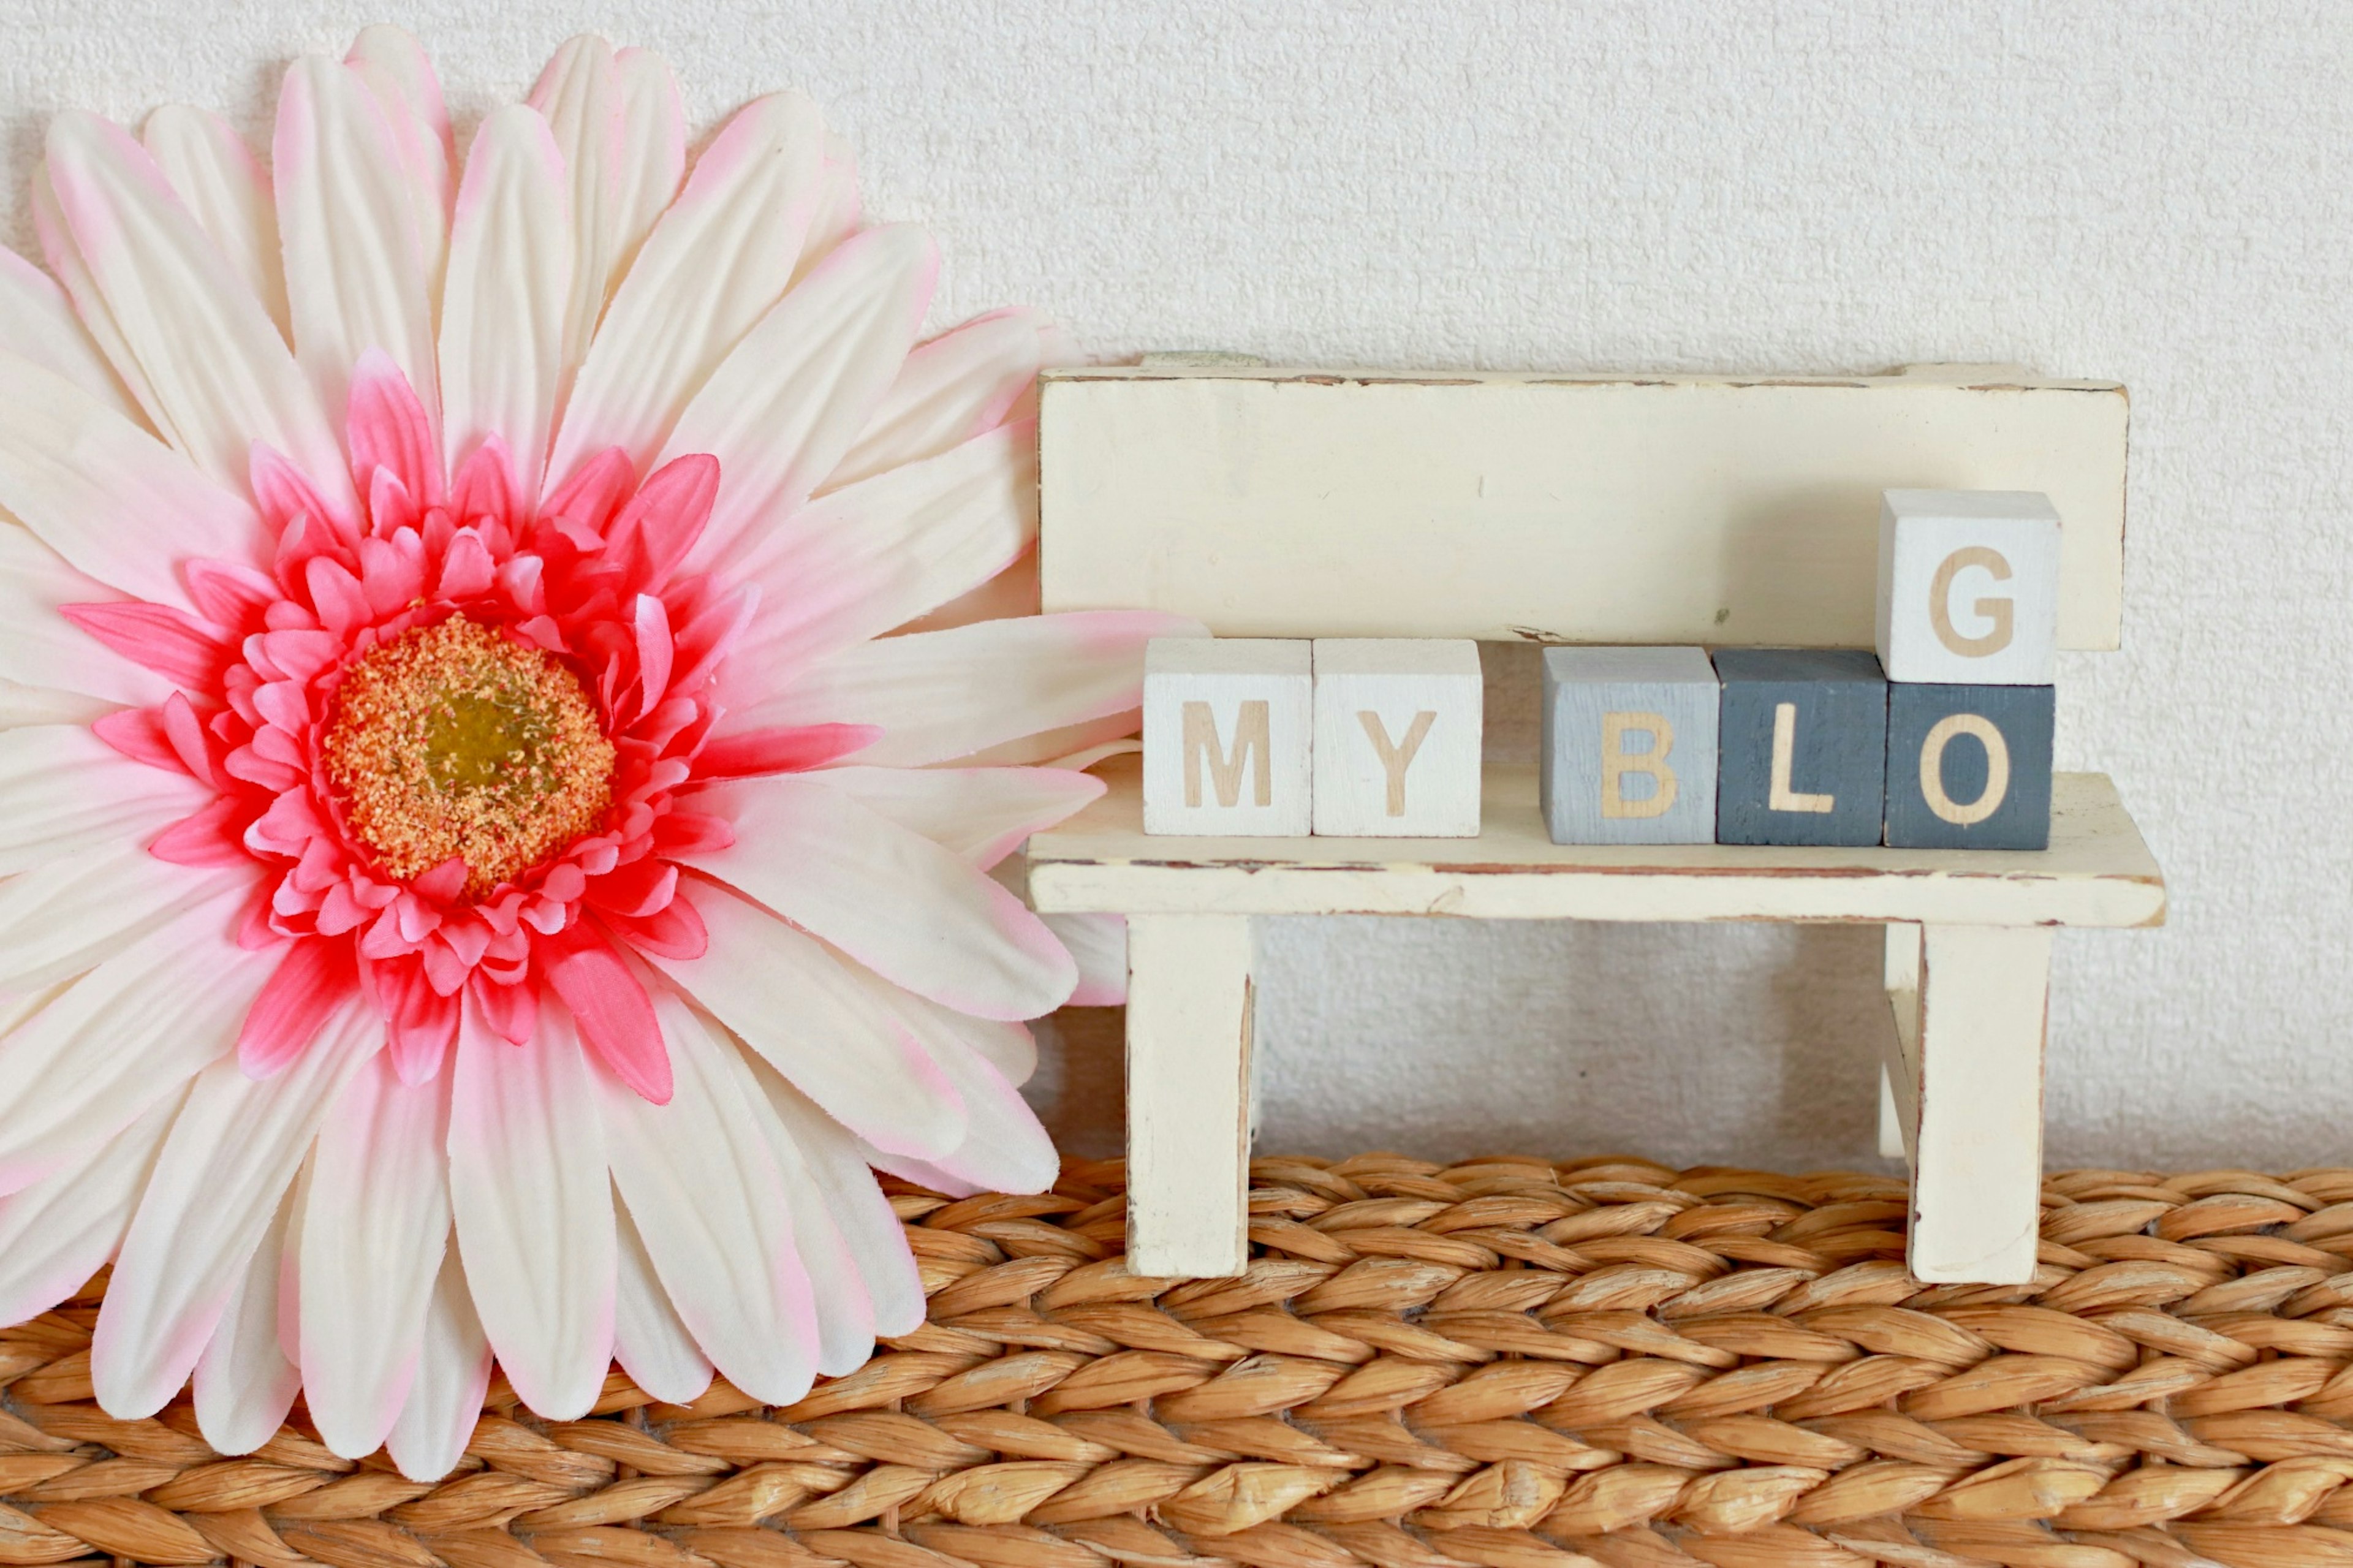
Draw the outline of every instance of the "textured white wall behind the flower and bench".
[[[1104,358],[2127,381],[2127,652],[2064,659],[2059,758],[2118,777],[2174,921],[2061,935],[2049,1154],[2348,1156],[2346,9],[5,0],[19,242],[54,108],[261,127],[376,19],[466,118],[579,28],[668,54],[699,122],[798,85],[936,231],[944,318],[1035,304]],[[1847,930],[1275,923],[1266,1144],[1864,1163],[1873,968]],[[1040,1095],[1101,1147],[1068,1034]]]

